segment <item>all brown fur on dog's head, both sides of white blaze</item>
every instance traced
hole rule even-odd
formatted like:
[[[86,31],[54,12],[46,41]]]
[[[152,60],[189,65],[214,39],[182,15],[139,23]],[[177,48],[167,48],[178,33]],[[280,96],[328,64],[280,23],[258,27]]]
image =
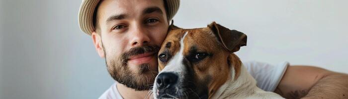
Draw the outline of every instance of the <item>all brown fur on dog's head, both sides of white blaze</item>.
[[[180,40],[186,32],[187,35],[183,38],[184,45],[180,45]],[[166,47],[168,42],[172,43],[170,48]],[[196,76],[194,81],[197,83],[207,83],[209,99],[226,81],[230,80],[231,68],[235,69],[235,79],[240,75],[242,62],[237,55],[223,47],[210,28],[171,30],[160,52],[169,50],[172,55],[175,55],[179,51],[180,46],[184,46],[184,50],[183,53],[179,54],[183,54],[184,56],[189,54],[192,47],[195,47],[197,51],[212,53],[211,56],[207,56],[199,62],[192,63],[190,67]],[[166,64],[159,62],[159,70],[163,70]]]

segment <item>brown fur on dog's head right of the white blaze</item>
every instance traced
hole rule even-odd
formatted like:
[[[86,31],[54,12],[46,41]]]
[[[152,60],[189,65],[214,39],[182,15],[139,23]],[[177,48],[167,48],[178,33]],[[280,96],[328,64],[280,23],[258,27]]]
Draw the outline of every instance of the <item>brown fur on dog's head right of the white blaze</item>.
[[[188,53],[191,46],[195,46],[199,51],[213,53],[211,57],[193,64],[198,78],[197,82],[208,82],[209,98],[213,96],[230,77],[231,67],[228,65],[227,58],[230,54],[213,35],[209,28],[192,29],[188,31],[185,42],[184,53]],[[233,57],[234,62],[235,58]]]

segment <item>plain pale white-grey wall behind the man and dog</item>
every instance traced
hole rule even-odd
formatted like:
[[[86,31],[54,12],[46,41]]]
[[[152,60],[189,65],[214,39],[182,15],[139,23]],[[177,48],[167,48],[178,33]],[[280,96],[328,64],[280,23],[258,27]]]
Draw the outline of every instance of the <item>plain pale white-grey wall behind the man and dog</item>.
[[[112,83],[78,26],[81,0],[0,0],[0,99],[96,99]],[[348,73],[348,0],[181,0],[174,24],[244,32],[242,61]]]

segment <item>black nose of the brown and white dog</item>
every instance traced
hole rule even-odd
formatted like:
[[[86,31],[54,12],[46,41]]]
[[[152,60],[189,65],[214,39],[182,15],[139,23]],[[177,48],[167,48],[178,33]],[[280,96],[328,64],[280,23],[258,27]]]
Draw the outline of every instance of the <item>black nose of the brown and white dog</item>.
[[[157,86],[159,88],[170,88],[177,82],[177,75],[174,73],[161,73],[157,76]]]

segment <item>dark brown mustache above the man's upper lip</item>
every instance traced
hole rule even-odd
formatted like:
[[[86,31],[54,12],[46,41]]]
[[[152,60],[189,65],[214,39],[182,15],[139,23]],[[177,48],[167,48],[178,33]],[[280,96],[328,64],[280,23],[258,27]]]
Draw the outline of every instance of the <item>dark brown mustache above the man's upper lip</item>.
[[[129,49],[128,51],[124,52],[121,55],[121,59],[122,59],[121,61],[123,63],[127,63],[128,59],[131,56],[139,55],[139,54],[143,54],[143,53],[147,53],[147,52],[155,52],[157,54],[159,50],[160,50],[159,46],[151,45],[151,44],[144,45],[142,47],[135,47],[135,48]]]

